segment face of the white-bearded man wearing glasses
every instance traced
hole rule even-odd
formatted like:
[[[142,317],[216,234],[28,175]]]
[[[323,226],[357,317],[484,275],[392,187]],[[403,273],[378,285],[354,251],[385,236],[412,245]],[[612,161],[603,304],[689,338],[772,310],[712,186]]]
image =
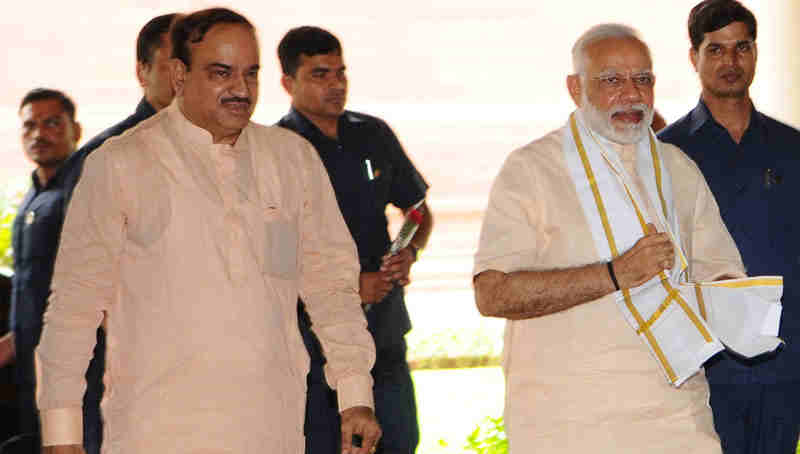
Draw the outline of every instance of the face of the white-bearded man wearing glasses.
[[[653,119],[655,76],[647,47],[635,38],[604,38],[584,53],[584,74],[570,76],[568,84],[588,126],[616,143],[637,142]]]

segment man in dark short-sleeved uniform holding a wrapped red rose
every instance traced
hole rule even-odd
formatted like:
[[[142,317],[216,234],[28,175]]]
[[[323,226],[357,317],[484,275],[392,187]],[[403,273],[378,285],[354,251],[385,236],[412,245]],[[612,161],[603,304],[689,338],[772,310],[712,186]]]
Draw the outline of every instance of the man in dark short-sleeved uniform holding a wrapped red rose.
[[[377,359],[375,413],[383,429],[378,453],[413,453],[419,441],[414,387],[406,362],[411,328],[403,301],[411,264],[432,227],[425,205],[428,185],[392,130],[378,118],[344,110],[347,77],[339,40],[317,27],[289,31],[278,46],[281,83],[292,108],[278,123],[314,145],[336,192],[339,208],[358,247],[360,294],[366,304]],[[404,212],[422,202],[423,222],[411,244],[384,257],[390,239],[385,215],[391,203]],[[322,373],[324,357],[299,304],[300,330],[311,355],[306,403],[306,452],[335,453],[339,442],[335,395]]]

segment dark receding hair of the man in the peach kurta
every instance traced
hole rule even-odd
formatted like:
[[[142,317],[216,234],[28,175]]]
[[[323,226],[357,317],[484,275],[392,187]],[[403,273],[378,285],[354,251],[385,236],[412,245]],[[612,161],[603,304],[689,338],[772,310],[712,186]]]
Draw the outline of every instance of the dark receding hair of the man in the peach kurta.
[[[217,24],[242,24],[255,30],[241,14],[227,8],[209,8],[181,17],[172,26],[172,57],[191,67],[189,45],[203,41],[206,33]]]

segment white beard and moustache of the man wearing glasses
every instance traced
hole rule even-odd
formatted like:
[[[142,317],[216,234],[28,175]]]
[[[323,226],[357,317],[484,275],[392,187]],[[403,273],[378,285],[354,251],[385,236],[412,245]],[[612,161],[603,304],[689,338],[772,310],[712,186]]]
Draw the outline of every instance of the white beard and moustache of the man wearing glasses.
[[[622,110],[630,109],[643,112],[642,121],[637,124],[625,124],[622,128],[612,124],[612,115]],[[581,93],[581,107],[579,110],[589,129],[620,145],[632,144],[642,140],[650,129],[654,114],[653,109],[643,103],[633,104],[628,107],[612,106],[607,112],[603,112],[589,101],[585,90]]]

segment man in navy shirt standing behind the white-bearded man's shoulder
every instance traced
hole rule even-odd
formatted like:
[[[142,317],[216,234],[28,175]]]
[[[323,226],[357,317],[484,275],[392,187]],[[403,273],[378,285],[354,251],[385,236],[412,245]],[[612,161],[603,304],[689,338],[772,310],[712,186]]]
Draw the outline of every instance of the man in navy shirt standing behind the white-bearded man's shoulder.
[[[725,454],[794,454],[800,432],[800,132],[757,111],[756,19],[734,0],[689,15],[700,102],[659,137],[691,156],[719,204],[750,275],[783,276],[783,350],[755,360],[725,353],[706,364]]]

